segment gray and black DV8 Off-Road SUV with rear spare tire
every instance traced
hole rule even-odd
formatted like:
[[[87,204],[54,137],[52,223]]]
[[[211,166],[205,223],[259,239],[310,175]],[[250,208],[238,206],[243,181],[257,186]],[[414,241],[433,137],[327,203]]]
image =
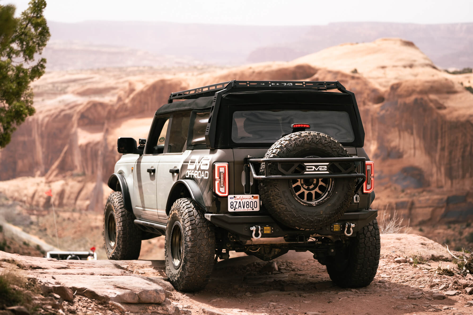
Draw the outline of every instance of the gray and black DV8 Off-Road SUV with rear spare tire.
[[[108,258],[137,259],[142,240],[164,235],[178,290],[202,289],[230,251],[265,261],[309,251],[338,286],[367,286],[380,240],[364,137],[355,96],[338,81],[172,93],[147,139],[118,139]]]

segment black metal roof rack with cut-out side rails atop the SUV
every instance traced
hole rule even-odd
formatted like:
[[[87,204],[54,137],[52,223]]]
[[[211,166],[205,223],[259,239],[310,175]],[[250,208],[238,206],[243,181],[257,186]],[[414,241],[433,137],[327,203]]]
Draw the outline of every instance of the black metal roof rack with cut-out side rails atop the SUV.
[[[205,87],[193,88],[180,92],[171,93],[167,103],[172,103],[175,99],[199,98],[202,96],[214,96],[216,92],[230,89],[238,91],[251,91],[254,89],[273,90],[273,89],[300,89],[327,91],[339,89],[345,91],[345,87],[338,81],[227,81],[217,84],[206,85]]]

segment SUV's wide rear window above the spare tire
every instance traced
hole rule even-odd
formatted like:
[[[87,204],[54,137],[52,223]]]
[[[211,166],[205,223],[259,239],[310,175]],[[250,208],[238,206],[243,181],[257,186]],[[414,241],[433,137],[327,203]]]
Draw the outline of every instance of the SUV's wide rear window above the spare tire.
[[[274,142],[292,132],[291,124],[308,123],[310,131],[325,133],[339,142],[355,140],[350,115],[342,111],[236,111],[232,140],[236,143]]]

